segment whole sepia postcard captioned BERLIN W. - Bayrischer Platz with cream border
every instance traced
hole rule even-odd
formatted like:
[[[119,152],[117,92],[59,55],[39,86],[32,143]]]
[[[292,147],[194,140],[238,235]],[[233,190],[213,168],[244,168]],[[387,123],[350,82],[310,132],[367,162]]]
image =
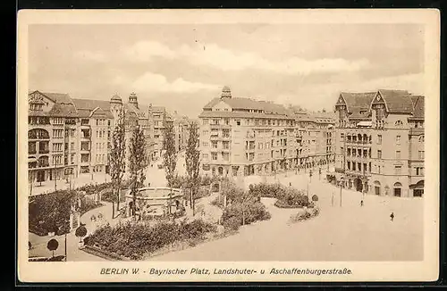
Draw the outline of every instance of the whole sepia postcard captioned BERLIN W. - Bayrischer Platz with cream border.
[[[439,11],[22,10],[17,50],[21,282],[438,279]]]

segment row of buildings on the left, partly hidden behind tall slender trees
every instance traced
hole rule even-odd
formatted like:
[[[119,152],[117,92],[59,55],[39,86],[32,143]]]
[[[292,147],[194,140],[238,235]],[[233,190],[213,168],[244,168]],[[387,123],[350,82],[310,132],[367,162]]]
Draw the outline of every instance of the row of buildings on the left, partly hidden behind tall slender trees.
[[[33,91],[29,94],[28,165],[30,183],[108,173],[114,122],[123,110],[125,139],[139,126],[146,137],[148,161],[160,158],[164,129],[173,125],[176,149],[186,145],[188,120],[164,107],[141,105],[132,93],[110,101],[76,99],[68,94]],[[126,146],[126,153],[129,150]]]

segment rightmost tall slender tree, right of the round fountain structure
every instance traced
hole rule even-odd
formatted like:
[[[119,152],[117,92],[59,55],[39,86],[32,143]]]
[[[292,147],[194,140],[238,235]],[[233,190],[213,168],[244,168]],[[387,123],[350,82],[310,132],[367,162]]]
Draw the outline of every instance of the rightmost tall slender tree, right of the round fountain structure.
[[[188,143],[186,145],[186,173],[188,175],[188,185],[190,188],[190,206],[192,208],[193,215],[195,214],[195,200],[199,187],[198,170],[200,166],[200,152],[198,151],[198,124],[196,122],[190,122]]]

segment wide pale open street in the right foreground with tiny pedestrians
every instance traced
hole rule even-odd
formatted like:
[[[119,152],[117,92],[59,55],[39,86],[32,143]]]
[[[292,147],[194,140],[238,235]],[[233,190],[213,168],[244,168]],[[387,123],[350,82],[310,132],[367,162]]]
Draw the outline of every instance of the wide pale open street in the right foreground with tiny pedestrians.
[[[285,185],[307,187],[308,176],[278,175]],[[322,174],[323,177],[323,174]],[[251,178],[254,179],[254,178]],[[274,179],[274,177],[268,177]],[[323,178],[322,178],[323,179]],[[153,261],[417,261],[423,259],[423,200],[361,194],[312,178],[311,195],[319,196],[320,215],[290,224],[293,209],[279,209],[263,199],[271,220],[245,226],[232,237]],[[334,199],[332,196],[334,195]],[[332,206],[332,201],[334,205]],[[390,220],[390,213],[396,215]]]

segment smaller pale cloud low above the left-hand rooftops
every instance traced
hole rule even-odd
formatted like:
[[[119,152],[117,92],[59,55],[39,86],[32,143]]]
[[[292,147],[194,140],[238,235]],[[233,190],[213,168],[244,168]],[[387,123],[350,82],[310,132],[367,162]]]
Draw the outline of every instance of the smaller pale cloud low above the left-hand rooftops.
[[[128,82],[122,77],[116,77],[114,83],[132,87],[137,92],[161,92],[161,93],[194,93],[198,91],[218,91],[219,86],[213,84],[204,84],[200,82],[191,82],[182,78],[169,81],[163,75],[153,72],[146,72],[138,79]],[[131,85],[129,85],[131,84]]]

